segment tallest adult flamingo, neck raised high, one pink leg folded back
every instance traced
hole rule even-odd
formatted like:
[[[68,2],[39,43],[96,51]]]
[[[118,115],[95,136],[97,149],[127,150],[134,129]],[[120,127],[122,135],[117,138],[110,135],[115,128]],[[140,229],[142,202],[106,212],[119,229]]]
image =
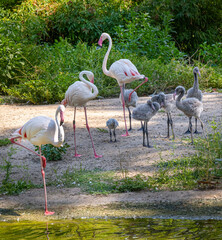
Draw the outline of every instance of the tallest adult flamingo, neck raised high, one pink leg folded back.
[[[126,116],[125,116],[125,101],[124,101],[124,94],[123,94],[123,84],[125,83],[130,83],[133,82],[135,80],[139,80],[139,79],[144,79],[145,81],[142,82],[140,85],[138,85],[130,94],[129,94],[129,101],[131,101],[131,95],[132,93],[139,88],[142,84],[144,84],[145,82],[148,81],[148,78],[145,77],[144,75],[141,75],[136,66],[128,59],[120,59],[116,62],[114,62],[109,70],[107,70],[107,60],[108,60],[108,56],[109,53],[111,51],[112,48],[112,39],[110,37],[110,35],[108,33],[102,33],[102,35],[100,36],[100,39],[98,41],[98,44],[100,47],[102,47],[102,43],[105,39],[108,39],[109,41],[109,47],[108,50],[105,54],[105,57],[103,59],[103,65],[102,65],[102,69],[103,69],[103,73],[109,77],[115,78],[120,86],[120,91],[121,91],[121,96],[122,96],[122,105],[123,105],[123,116],[124,116],[124,122],[125,122],[125,129],[126,129],[126,134],[122,135],[122,136],[129,136],[128,130],[127,130],[127,125],[126,125]]]

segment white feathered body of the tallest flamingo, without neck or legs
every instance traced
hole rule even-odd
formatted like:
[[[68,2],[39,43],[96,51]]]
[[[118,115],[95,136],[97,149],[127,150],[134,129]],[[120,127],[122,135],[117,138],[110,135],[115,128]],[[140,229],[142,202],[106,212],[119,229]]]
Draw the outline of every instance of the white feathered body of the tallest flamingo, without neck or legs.
[[[136,66],[128,59],[120,59],[114,62],[109,69],[111,77],[117,79],[120,86],[123,83],[130,83],[134,80],[143,79]]]

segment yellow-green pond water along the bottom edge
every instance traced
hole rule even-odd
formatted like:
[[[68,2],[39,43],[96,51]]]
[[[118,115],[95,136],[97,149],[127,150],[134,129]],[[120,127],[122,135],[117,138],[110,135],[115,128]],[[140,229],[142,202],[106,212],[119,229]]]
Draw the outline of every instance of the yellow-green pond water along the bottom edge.
[[[222,220],[76,219],[0,222],[0,239],[222,239]]]

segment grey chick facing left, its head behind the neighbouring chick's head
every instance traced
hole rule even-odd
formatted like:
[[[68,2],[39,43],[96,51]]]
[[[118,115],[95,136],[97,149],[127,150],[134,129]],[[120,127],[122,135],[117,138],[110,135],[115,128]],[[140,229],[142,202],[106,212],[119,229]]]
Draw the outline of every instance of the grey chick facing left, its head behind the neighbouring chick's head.
[[[164,94],[160,92],[157,95],[154,95],[151,100],[153,102],[158,102],[160,105],[162,103],[162,108],[165,110],[167,114],[167,137],[170,137],[170,126],[172,130],[173,139],[175,139],[175,134],[173,130],[173,120],[171,117],[171,112],[175,108],[175,100],[173,98],[173,94]]]

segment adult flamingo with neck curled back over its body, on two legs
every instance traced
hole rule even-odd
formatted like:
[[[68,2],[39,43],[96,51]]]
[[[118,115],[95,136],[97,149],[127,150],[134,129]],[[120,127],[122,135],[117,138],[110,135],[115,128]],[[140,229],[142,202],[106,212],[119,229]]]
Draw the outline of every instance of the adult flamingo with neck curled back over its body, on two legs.
[[[87,81],[83,75],[86,74],[88,79],[90,80]],[[97,155],[96,150],[94,147],[92,135],[90,133],[90,128],[88,125],[88,120],[87,120],[87,113],[86,113],[86,104],[88,101],[94,99],[99,91],[94,85],[94,74],[90,71],[82,71],[79,74],[79,79],[81,81],[76,81],[72,85],[69,86],[68,90],[65,93],[65,99],[63,99],[62,104],[65,106],[74,106],[74,120],[73,120],[73,130],[74,130],[74,145],[75,145],[75,157],[80,157],[80,154],[77,154],[76,151],[76,134],[75,134],[75,129],[76,129],[76,123],[75,123],[75,118],[76,118],[76,107],[84,107],[85,111],[85,119],[86,119],[86,128],[89,132],[89,136],[92,142],[92,147],[94,151],[94,156],[95,158],[100,158],[102,155]],[[93,92],[92,92],[93,90]]]

